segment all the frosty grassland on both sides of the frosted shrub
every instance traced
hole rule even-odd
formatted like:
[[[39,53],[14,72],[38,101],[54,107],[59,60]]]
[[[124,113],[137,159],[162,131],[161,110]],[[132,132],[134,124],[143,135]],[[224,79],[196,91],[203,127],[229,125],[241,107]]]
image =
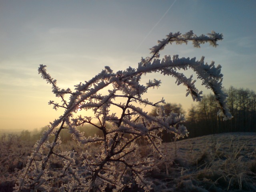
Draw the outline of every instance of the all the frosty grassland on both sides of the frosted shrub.
[[[79,150],[75,143],[69,147]],[[64,146],[65,148],[65,146]],[[12,191],[32,144],[16,138],[0,142],[0,191]],[[153,191],[256,191],[256,133],[225,133],[164,143],[159,158],[148,146],[141,155],[155,159],[147,175]],[[58,169],[61,162],[52,162]],[[127,189],[126,191],[131,191]],[[135,185],[132,191],[142,191]]]

